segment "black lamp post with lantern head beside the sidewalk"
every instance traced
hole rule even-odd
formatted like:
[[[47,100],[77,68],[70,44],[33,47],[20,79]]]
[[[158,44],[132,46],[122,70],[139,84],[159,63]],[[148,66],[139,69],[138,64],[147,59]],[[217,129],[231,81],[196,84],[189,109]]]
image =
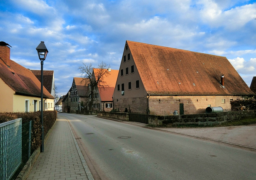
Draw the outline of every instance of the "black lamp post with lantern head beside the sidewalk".
[[[42,145],[41,145],[41,152],[44,152],[44,116],[43,116],[43,68],[44,68],[44,60],[46,58],[46,55],[48,53],[48,50],[46,46],[44,45],[44,42],[41,41],[40,44],[36,48],[38,57],[41,61],[41,122],[42,122]]]

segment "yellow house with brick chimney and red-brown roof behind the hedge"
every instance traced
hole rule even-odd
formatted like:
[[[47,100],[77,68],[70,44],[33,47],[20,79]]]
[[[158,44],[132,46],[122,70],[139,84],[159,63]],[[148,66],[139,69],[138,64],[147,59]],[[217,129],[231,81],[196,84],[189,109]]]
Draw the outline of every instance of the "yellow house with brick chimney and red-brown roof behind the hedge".
[[[41,110],[41,83],[27,68],[10,60],[10,45],[0,42],[0,112]],[[54,110],[54,97],[43,89],[43,110]]]

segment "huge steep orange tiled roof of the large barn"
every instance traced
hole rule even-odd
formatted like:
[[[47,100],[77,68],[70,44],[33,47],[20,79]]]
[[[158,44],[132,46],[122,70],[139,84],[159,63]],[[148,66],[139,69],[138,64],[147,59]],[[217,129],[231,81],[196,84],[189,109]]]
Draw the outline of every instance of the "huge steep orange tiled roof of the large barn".
[[[148,94],[254,95],[226,57],[126,41]],[[220,77],[224,74],[224,87]]]

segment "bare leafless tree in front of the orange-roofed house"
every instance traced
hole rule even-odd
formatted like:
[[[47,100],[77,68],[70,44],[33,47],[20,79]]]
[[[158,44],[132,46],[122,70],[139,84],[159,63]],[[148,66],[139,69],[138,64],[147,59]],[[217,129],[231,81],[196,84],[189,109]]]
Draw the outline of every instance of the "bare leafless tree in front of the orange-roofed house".
[[[97,90],[97,88],[107,88],[108,84],[104,81],[104,77],[108,76],[108,68],[110,68],[109,65],[107,65],[105,62],[101,62],[98,64],[98,68],[94,68],[92,66],[92,63],[90,64],[84,64],[83,66],[80,66],[78,70],[80,70],[81,76],[83,78],[83,81],[85,81],[85,84],[89,84],[88,89],[88,99],[90,97],[89,101],[89,110],[92,110],[92,105],[94,102],[94,94]],[[94,70],[95,69],[95,70]]]

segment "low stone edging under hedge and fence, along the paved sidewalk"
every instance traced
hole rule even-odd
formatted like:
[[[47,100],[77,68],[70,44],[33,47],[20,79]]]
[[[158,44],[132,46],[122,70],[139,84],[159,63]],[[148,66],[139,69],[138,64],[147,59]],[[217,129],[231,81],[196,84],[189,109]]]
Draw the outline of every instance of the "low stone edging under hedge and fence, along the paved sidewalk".
[[[56,121],[54,122],[52,128],[47,132],[46,136],[44,137],[44,143],[46,143],[55,124],[56,124]],[[26,162],[26,164],[24,165],[24,167],[22,168],[22,170],[20,171],[19,175],[16,177],[15,180],[26,180],[39,154],[40,154],[40,147],[34,150],[33,154],[30,156],[30,158],[28,159],[28,161]]]

